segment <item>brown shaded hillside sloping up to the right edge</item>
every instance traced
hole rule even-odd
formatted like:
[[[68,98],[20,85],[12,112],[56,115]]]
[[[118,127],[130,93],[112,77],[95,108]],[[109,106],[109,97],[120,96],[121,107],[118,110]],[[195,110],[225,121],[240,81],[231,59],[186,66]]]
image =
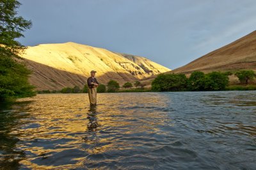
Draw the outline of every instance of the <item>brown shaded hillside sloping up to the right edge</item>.
[[[194,71],[236,71],[241,69],[256,70],[256,31],[236,40],[220,49],[214,50],[187,65],[166,73],[186,73]],[[156,78],[152,75],[141,80],[148,86]],[[231,81],[236,81],[232,76]]]

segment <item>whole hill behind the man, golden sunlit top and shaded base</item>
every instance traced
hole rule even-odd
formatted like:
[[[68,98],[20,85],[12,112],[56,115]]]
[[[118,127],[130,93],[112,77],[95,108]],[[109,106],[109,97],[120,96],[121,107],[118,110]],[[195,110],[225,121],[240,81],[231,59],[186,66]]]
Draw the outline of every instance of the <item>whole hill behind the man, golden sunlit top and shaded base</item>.
[[[103,84],[110,79],[120,84],[134,82],[170,70],[146,58],[136,56],[136,61],[131,61],[106,49],[73,42],[28,47],[21,57],[32,68],[34,73],[30,81],[37,89],[60,89],[71,84],[79,85],[83,77],[90,76],[91,70],[97,70],[97,77],[100,77]],[[49,82],[50,79],[55,82]]]

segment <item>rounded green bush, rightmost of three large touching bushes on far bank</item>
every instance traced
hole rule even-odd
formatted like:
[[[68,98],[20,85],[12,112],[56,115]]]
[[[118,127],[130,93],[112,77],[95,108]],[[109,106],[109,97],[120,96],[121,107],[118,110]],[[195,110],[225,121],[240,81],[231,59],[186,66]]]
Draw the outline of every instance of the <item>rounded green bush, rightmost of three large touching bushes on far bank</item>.
[[[205,90],[224,90],[228,85],[228,75],[221,72],[211,72],[205,75]]]

